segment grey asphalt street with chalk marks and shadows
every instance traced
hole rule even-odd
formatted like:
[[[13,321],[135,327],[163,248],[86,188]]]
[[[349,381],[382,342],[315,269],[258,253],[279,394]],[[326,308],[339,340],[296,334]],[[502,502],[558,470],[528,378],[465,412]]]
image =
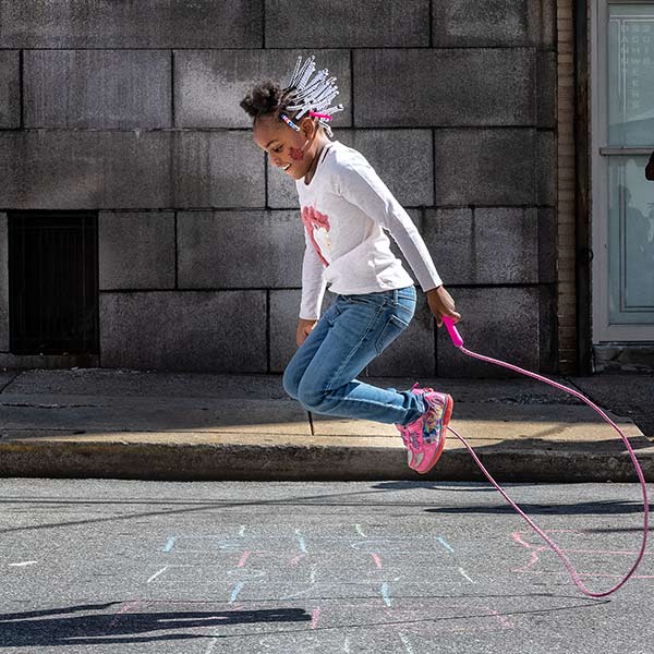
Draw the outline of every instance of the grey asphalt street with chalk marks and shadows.
[[[591,590],[637,485],[508,485]],[[652,546],[607,600],[486,484],[0,480],[0,652],[652,652]],[[650,489],[652,493],[652,488]]]

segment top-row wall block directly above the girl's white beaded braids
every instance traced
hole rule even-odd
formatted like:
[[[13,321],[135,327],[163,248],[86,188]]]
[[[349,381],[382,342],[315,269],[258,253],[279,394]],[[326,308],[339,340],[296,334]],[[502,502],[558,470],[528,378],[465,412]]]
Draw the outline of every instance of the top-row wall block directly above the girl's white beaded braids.
[[[428,0],[315,0],[302,11],[287,0],[266,0],[267,48],[428,46]]]

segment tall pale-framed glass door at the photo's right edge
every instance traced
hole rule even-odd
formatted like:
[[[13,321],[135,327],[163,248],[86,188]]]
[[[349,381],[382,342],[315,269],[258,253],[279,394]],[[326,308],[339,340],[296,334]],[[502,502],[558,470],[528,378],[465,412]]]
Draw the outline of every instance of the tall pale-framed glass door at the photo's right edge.
[[[654,341],[654,2],[597,0],[591,47],[593,341]]]

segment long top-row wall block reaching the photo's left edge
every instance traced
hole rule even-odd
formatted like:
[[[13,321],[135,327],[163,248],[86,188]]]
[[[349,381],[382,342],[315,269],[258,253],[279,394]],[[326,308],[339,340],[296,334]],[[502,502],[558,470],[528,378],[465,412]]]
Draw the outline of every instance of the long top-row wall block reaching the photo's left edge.
[[[262,0],[0,0],[0,48],[261,48]]]

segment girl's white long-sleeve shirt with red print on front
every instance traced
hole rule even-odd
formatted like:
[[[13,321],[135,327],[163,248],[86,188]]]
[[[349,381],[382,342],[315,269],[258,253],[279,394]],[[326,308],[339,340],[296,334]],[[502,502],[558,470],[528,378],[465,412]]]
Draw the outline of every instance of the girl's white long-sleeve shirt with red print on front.
[[[387,230],[423,291],[443,283],[413,221],[365,157],[325,145],[308,184],[295,181],[306,247],[300,317],[317,319],[325,288],[338,294],[400,289],[413,280],[390,250]]]

